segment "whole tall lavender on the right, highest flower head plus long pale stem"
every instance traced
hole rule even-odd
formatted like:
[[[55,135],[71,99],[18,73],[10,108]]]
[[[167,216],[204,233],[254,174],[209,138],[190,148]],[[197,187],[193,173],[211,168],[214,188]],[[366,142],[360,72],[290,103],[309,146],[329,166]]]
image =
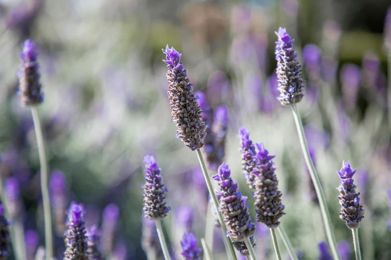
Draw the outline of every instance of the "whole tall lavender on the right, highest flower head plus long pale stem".
[[[276,60],[277,60],[277,78],[279,90],[281,92],[279,100],[283,106],[291,105],[296,128],[299,134],[300,144],[303,150],[304,158],[308,169],[310,170],[311,179],[314,183],[315,190],[320,203],[322,218],[326,229],[326,235],[335,260],[341,260],[332,229],[330,213],[327,208],[325,195],[323,194],[322,186],[316,172],[314,163],[311,160],[310,152],[306,137],[304,135],[303,124],[297,108],[304,96],[304,86],[302,80],[302,72],[300,64],[297,60],[297,53],[293,50],[294,40],[286,32],[285,29],[279,28],[276,32],[278,40],[276,41]]]

